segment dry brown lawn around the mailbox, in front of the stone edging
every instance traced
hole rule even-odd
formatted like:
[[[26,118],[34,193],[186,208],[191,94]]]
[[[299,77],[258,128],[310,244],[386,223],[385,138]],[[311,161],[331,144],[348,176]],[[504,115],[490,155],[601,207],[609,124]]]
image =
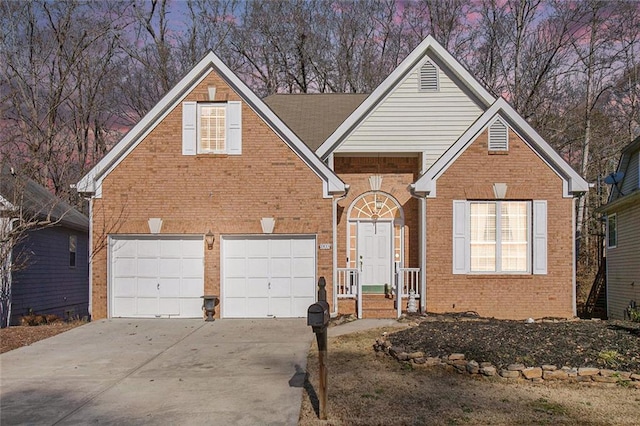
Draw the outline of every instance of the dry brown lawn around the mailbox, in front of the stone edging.
[[[461,324],[461,322],[453,323]],[[430,323],[429,326],[425,326],[425,333],[428,330],[427,327],[434,327],[434,324],[442,325],[442,323]],[[397,329],[378,329],[329,340],[327,421],[320,421],[317,417],[318,359],[317,347],[314,343],[308,359],[309,378],[303,392],[299,424],[306,426],[636,425],[640,423],[640,389],[615,385],[614,387],[593,387],[566,382],[532,384],[499,377],[474,378],[474,376],[447,372],[439,367],[413,369],[410,364],[399,363],[388,355],[377,353],[372,349],[376,338],[380,337],[384,331],[402,336],[397,339],[400,341],[406,338],[407,334],[420,334],[421,332],[416,330],[418,328],[412,327],[400,332]],[[438,335],[442,336],[443,341],[459,348],[460,345],[467,343],[468,339],[465,336],[469,336],[469,331],[462,332],[460,335],[444,332]],[[553,334],[546,335],[550,339],[557,339]],[[640,337],[632,334],[632,337],[634,336],[637,354]],[[634,341],[631,342],[633,344]],[[507,346],[506,343],[505,346]],[[445,351],[449,350],[447,348]]]

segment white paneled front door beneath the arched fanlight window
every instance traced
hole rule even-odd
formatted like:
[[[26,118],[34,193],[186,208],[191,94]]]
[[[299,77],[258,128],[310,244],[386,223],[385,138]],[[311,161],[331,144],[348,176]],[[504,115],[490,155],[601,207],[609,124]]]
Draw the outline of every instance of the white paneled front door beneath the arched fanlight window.
[[[359,222],[358,256],[363,286],[391,284],[391,222]]]

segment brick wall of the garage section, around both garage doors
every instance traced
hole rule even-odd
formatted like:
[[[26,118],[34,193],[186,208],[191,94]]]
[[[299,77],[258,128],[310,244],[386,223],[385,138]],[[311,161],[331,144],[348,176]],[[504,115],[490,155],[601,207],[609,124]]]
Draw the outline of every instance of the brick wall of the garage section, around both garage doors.
[[[208,86],[217,88],[216,100],[241,100],[215,72],[185,100],[207,100]],[[148,235],[152,217],[163,220],[161,234],[213,231],[213,249],[203,248],[209,294],[220,294],[221,235],[262,234],[262,217],[276,219],[274,234],[332,242],[332,201],[323,198],[321,179],[244,102],[242,155],[183,156],[178,105],[104,179],[92,209],[94,319],[108,316],[106,235]],[[331,250],[317,251],[317,276],[331,294]]]

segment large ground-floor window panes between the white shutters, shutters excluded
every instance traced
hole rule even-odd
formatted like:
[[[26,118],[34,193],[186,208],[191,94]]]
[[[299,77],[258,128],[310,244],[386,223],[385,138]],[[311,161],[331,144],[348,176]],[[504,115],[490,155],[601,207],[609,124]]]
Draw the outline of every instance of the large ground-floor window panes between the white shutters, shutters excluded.
[[[469,214],[470,272],[529,271],[529,202],[470,202]]]

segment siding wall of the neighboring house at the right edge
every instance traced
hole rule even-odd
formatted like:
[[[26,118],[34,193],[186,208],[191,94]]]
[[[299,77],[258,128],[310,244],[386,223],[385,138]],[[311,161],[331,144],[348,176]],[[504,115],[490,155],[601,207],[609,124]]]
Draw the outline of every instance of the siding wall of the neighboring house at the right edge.
[[[630,301],[640,305],[640,205],[612,213],[618,245],[607,249],[607,311],[609,318],[622,319]]]

